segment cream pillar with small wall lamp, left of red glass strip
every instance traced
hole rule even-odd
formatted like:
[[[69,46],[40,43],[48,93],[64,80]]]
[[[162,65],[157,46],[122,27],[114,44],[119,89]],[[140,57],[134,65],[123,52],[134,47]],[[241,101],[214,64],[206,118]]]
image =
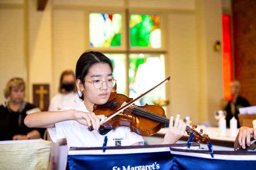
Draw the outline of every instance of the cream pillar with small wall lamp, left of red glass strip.
[[[214,111],[220,109],[223,98],[222,51],[215,51],[216,41],[222,41],[221,0],[196,1],[196,31],[199,75],[199,122],[215,124]]]

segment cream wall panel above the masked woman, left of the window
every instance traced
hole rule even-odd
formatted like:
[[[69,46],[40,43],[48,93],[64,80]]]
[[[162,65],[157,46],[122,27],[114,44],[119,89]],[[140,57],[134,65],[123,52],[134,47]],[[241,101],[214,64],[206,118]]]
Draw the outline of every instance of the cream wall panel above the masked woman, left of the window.
[[[85,13],[80,10],[53,12],[53,94],[58,92],[63,70],[75,72],[76,61],[85,49]]]

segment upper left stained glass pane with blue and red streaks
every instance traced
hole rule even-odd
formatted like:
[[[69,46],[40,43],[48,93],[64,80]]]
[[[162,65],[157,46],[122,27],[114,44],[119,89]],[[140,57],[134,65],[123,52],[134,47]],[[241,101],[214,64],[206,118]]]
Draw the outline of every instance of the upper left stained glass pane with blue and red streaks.
[[[122,15],[108,13],[90,13],[90,46],[121,46]]]

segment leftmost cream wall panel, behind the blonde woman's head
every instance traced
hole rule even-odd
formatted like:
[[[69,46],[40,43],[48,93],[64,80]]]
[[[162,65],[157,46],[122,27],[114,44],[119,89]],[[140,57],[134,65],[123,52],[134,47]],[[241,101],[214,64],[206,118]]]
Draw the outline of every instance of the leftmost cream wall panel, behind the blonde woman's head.
[[[1,8],[0,4],[0,103],[5,100],[4,88],[10,78],[27,81],[24,38],[22,5]]]

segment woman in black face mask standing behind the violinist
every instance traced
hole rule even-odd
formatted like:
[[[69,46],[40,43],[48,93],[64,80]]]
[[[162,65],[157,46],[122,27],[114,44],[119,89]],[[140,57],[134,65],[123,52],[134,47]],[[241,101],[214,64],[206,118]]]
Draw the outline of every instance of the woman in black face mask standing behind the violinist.
[[[65,70],[60,76],[59,93],[51,99],[48,111],[58,111],[62,107],[75,107],[75,74],[72,70]],[[52,144],[51,169],[61,170],[67,164],[67,140],[62,139],[58,143]]]

